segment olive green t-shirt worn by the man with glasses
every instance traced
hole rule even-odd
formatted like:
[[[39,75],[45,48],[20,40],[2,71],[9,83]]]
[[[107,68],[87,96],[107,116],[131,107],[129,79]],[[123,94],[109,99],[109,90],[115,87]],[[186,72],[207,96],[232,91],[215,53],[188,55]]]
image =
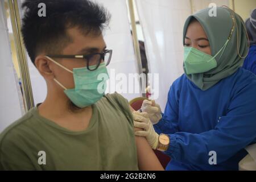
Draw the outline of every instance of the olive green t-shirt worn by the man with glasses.
[[[106,94],[92,105],[89,126],[79,132],[40,116],[34,107],[1,133],[0,169],[138,170],[127,100]]]

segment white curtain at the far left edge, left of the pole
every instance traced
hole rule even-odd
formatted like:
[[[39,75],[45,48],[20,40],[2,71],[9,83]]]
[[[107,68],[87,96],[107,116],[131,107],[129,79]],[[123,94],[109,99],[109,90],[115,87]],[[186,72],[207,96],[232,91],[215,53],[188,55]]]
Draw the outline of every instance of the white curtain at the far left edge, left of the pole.
[[[0,132],[24,113],[18,77],[11,58],[4,1],[0,1]]]

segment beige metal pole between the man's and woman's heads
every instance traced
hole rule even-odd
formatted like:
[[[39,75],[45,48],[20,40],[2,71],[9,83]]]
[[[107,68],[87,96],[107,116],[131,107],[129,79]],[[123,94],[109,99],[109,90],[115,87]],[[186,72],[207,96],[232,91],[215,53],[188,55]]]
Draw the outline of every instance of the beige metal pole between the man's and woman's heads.
[[[133,44],[134,44],[135,56],[137,58],[139,74],[141,75],[141,73],[143,73],[142,63],[141,63],[141,52],[139,50],[139,41],[138,41],[137,28],[136,28],[136,20],[134,15],[133,0],[128,0],[128,3],[129,3],[129,11],[130,11],[130,19],[131,19],[131,31],[133,32]],[[141,83],[146,83],[146,80],[144,80],[143,82],[140,81],[140,84]],[[141,90],[146,90],[146,86],[141,84]],[[146,97],[146,94],[142,93],[142,96]]]

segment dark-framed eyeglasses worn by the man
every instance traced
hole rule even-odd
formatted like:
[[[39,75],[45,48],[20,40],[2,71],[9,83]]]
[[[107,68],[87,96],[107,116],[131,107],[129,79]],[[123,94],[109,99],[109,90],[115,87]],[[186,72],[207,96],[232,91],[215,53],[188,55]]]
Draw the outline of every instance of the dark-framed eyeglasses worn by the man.
[[[112,57],[112,50],[104,50],[102,53],[92,53],[89,55],[46,55],[48,57],[55,57],[55,58],[70,58],[70,59],[85,59],[86,60],[86,67],[89,71],[96,70],[102,60],[104,63],[109,65],[111,57]],[[96,65],[96,67],[90,67]]]

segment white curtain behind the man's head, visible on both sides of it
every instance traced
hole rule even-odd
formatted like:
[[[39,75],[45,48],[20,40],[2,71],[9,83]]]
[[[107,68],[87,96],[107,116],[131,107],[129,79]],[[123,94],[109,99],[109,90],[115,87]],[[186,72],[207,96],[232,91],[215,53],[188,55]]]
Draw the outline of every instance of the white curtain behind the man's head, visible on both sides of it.
[[[104,39],[108,49],[113,49],[112,60],[108,66],[110,75],[109,87],[107,93],[115,91],[120,92],[118,83],[126,81],[129,73],[138,73],[137,61],[135,59],[133,40],[130,33],[130,24],[127,14],[127,7],[125,0],[94,0],[102,4],[112,14],[112,19],[109,24],[109,29],[104,32]],[[53,27],[54,28],[54,27]],[[30,77],[32,84],[32,91],[35,104],[43,102],[46,98],[47,88],[43,77],[36,70],[34,65],[28,58],[28,66],[30,69]],[[121,73],[121,74],[120,74]],[[139,88],[138,80],[134,81],[134,88]],[[121,94],[127,100],[135,97],[140,97],[140,93],[128,93],[129,81]],[[127,88],[127,92],[126,89]]]

